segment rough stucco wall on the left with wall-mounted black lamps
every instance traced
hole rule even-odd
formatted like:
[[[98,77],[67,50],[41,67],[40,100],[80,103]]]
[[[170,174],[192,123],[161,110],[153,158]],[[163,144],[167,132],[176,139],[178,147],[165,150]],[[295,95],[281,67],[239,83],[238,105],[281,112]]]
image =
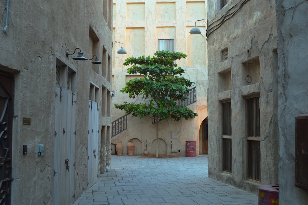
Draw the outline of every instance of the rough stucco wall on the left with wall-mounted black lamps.
[[[109,7],[111,13],[112,1],[109,1],[109,6],[107,0],[95,3],[10,1],[6,33],[2,30],[6,19],[5,6],[6,1],[0,2],[3,11],[0,21],[0,70],[14,75],[14,115],[17,116],[13,118],[11,204],[54,204],[56,59],[76,71],[75,166],[70,168],[70,172],[75,173],[72,186],[75,187],[76,200],[87,189],[89,82],[91,80],[99,86],[99,105],[107,104],[107,94],[111,91],[111,61],[108,66],[108,55],[112,57],[112,15],[106,14],[106,11]],[[92,48],[90,35],[93,32],[89,31],[90,27],[99,39],[96,48]],[[92,66],[89,60],[73,60],[77,52],[67,58],[66,51],[72,53],[76,47],[88,59],[97,55],[100,61],[105,61]],[[105,94],[103,87],[106,88]],[[101,152],[98,157],[104,171],[104,167],[110,165],[111,107],[105,108],[108,117],[102,114],[102,109],[99,113]],[[31,125],[24,125],[23,117],[31,118]],[[22,154],[23,144],[28,148],[26,155]],[[42,156],[38,156],[38,144],[44,144],[45,154]]]

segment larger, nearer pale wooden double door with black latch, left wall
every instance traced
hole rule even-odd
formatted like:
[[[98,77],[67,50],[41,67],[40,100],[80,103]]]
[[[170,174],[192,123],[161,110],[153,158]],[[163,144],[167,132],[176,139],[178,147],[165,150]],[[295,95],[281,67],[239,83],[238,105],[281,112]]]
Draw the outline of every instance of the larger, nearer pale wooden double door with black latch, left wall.
[[[54,204],[74,202],[76,94],[56,88]]]

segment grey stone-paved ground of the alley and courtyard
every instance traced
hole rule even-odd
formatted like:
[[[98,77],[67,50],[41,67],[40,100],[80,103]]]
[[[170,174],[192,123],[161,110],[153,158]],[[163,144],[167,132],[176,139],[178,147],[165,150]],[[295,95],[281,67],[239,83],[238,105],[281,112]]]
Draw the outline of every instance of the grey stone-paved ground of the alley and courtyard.
[[[73,205],[258,204],[256,195],[208,177],[206,155],[179,158],[111,158],[111,171]]]

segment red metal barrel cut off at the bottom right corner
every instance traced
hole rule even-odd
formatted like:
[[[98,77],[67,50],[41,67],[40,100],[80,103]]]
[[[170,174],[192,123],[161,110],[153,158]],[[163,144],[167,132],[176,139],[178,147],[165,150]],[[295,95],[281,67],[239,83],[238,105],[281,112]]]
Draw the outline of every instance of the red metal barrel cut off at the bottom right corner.
[[[273,185],[260,185],[258,205],[278,205],[279,204],[279,186]]]

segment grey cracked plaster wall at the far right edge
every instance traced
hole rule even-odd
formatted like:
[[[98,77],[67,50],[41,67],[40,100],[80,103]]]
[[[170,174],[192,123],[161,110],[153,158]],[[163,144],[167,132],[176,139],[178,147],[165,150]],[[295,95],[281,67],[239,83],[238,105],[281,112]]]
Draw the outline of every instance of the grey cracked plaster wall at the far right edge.
[[[306,103],[308,100],[308,20],[306,18],[308,2],[276,0],[276,10],[279,68],[279,204],[306,204],[308,191],[295,187],[294,182],[295,117],[308,114]],[[302,171],[305,172],[305,170]]]

